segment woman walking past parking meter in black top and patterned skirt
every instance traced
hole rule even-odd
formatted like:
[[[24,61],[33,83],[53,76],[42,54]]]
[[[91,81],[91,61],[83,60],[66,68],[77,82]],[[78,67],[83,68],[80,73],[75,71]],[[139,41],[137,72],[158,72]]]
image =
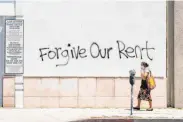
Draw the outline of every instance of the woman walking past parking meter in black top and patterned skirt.
[[[149,65],[146,62],[141,63],[141,86],[140,91],[138,94],[138,105],[134,107],[136,110],[140,110],[140,103],[141,100],[145,100],[149,102],[149,108],[147,111],[153,111],[152,108],[152,98],[151,98],[151,90],[148,88],[148,76],[150,75],[151,71],[149,70]]]

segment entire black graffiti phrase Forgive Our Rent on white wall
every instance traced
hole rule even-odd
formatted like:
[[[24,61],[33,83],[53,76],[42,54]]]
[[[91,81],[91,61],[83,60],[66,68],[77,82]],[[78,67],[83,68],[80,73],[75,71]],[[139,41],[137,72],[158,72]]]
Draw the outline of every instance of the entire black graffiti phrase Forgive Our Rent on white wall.
[[[116,51],[117,56],[119,59],[129,59],[129,58],[140,58],[143,59],[146,56],[150,61],[153,60],[153,57],[150,56],[150,51],[155,50],[154,47],[149,47],[148,41],[146,41],[146,46],[141,47],[139,45],[135,45],[134,47],[127,46],[123,41],[117,40],[116,47],[106,47],[101,48],[97,42],[93,42],[90,45],[90,49],[87,52],[86,48],[76,46],[72,47],[69,43],[67,44],[67,48],[63,47],[55,47],[53,49],[49,47],[39,48],[40,58],[41,61],[46,60],[59,60],[65,59],[64,63],[56,64],[57,66],[64,66],[67,65],[70,59],[83,59],[87,57],[91,57],[94,59],[101,58],[101,59],[110,59],[111,52]],[[146,55],[143,55],[143,51],[146,52]],[[116,55],[115,55],[116,56]]]

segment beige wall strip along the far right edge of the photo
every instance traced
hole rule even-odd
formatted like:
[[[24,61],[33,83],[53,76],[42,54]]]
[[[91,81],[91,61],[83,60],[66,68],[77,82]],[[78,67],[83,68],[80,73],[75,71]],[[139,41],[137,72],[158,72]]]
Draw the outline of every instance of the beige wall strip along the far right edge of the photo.
[[[174,99],[183,108],[183,2],[174,2]]]

